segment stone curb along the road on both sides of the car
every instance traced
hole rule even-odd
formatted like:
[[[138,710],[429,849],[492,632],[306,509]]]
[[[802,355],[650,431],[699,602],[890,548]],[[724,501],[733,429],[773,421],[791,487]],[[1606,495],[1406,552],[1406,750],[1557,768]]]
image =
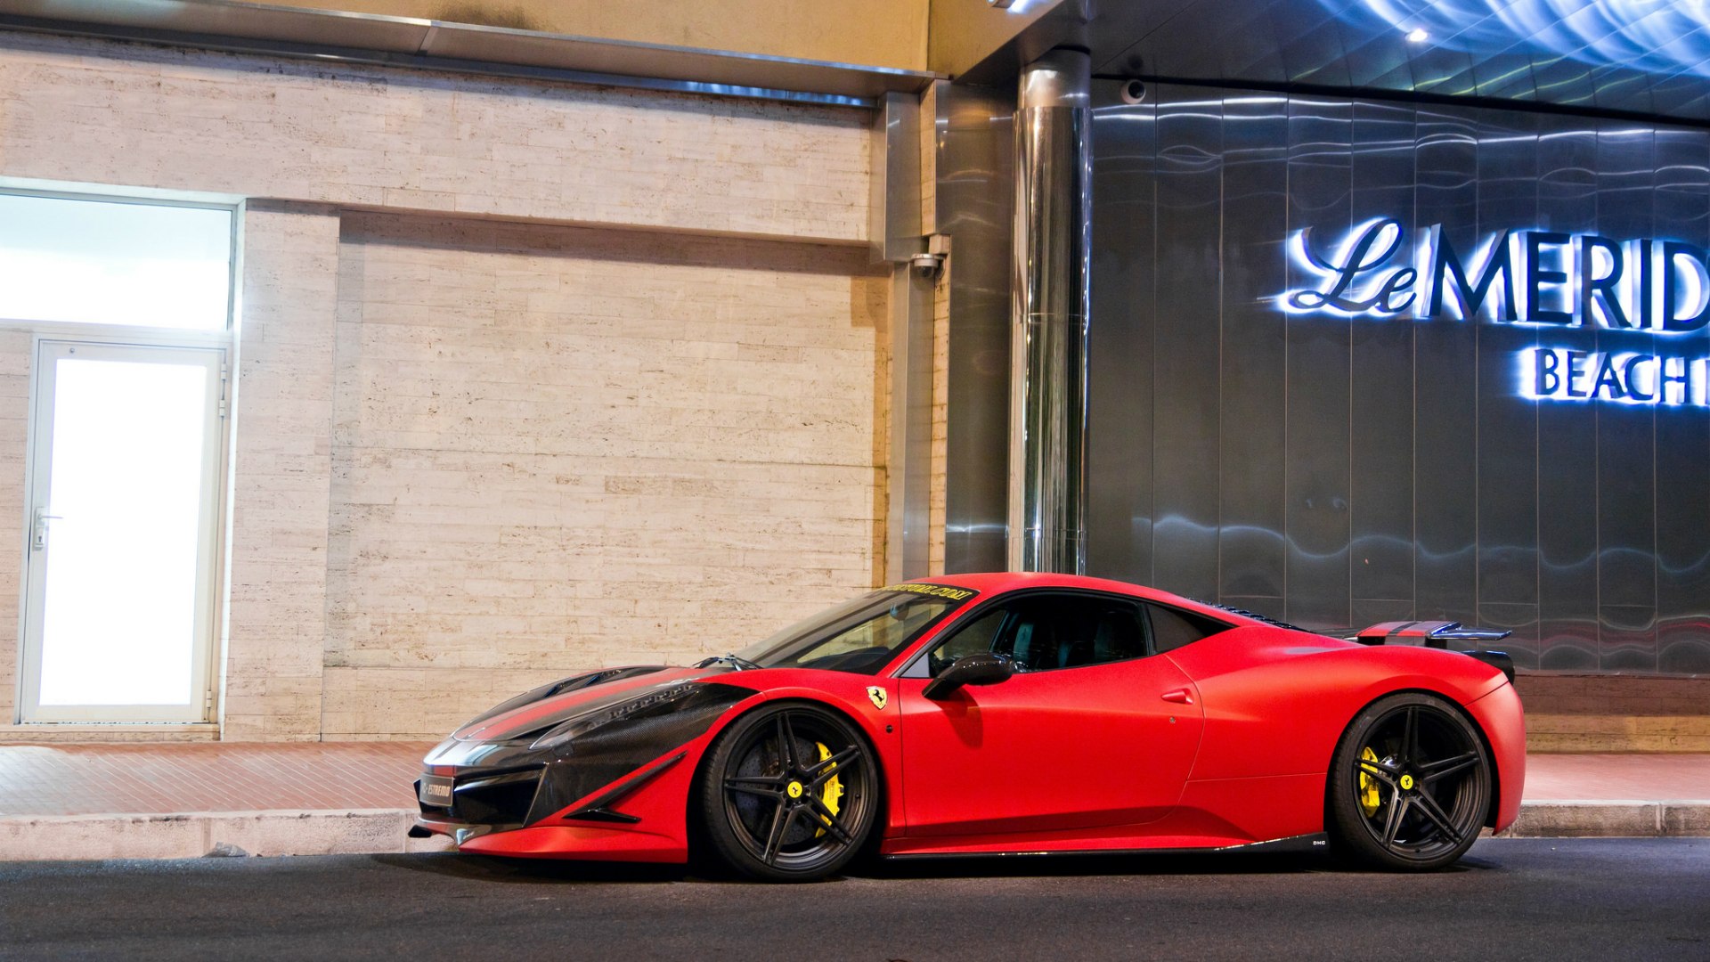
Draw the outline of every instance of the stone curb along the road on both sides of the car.
[[[3,815],[0,861],[183,859],[448,851],[405,835],[407,808]],[[1710,801],[1529,801],[1501,839],[1710,835]]]

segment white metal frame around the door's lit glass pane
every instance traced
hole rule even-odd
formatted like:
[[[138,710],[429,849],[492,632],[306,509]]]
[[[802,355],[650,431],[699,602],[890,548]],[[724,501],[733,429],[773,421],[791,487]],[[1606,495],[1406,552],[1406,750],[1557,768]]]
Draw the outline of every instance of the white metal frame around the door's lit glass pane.
[[[12,724],[14,726],[186,726],[186,724],[215,724],[219,721],[219,695],[224,688],[222,678],[222,659],[224,659],[224,611],[226,611],[226,594],[229,582],[229,565],[227,549],[231,541],[231,519],[229,519],[229,491],[231,491],[231,442],[233,442],[233,344],[231,330],[210,330],[210,332],[186,332],[174,330],[166,332],[161,329],[137,329],[123,325],[89,325],[89,324],[43,324],[31,332],[29,344],[29,413],[26,421],[26,440],[24,440],[24,503],[19,519],[19,531],[22,537],[19,539],[19,606],[17,606],[17,683],[14,685],[14,709]],[[209,493],[203,510],[212,512],[212,524],[209,531],[209,573],[207,573],[207,597],[202,603],[202,611],[198,616],[205,620],[207,625],[207,649],[203,654],[203,662],[195,666],[203,680],[202,692],[192,690],[190,710],[186,714],[176,714],[174,717],[137,717],[137,719],[94,719],[94,717],[27,717],[31,709],[39,716],[41,705],[36,704],[39,692],[31,697],[32,690],[39,686],[39,678],[32,674],[38,668],[39,650],[31,645],[29,638],[29,616],[31,616],[31,594],[34,589],[34,579],[31,577],[31,537],[34,534],[34,505],[38,495],[38,476],[43,471],[38,469],[36,457],[38,450],[44,443],[41,436],[41,389],[44,378],[43,349],[48,344],[89,344],[94,347],[121,347],[121,349],[164,349],[164,351],[210,351],[219,361],[219,399],[215,413],[214,436],[210,438],[214,445],[212,462],[207,466],[209,471]],[[200,707],[198,707],[200,705]],[[67,712],[67,716],[77,716],[80,712]],[[147,709],[139,714],[150,714]]]

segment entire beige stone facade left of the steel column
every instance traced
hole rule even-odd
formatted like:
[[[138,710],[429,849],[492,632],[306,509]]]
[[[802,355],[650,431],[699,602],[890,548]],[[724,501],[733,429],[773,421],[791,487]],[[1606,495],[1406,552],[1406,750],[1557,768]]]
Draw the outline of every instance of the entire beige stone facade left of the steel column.
[[[872,587],[869,122],[0,34],[0,185],[245,204],[221,736],[438,736]],[[0,325],[14,544],[36,332]]]

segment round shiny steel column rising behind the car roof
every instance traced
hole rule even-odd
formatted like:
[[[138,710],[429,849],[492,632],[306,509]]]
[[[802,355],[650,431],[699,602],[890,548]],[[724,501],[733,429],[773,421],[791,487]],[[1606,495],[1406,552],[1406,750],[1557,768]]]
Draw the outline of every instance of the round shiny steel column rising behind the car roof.
[[[1009,399],[1009,568],[1086,570],[1091,60],[1021,72]]]

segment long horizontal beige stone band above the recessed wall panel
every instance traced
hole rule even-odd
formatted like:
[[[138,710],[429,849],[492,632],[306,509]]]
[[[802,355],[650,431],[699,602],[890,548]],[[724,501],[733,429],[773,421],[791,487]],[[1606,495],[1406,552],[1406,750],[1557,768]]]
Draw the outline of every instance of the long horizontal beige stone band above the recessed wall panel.
[[[867,113],[0,33],[0,176],[858,243]]]

